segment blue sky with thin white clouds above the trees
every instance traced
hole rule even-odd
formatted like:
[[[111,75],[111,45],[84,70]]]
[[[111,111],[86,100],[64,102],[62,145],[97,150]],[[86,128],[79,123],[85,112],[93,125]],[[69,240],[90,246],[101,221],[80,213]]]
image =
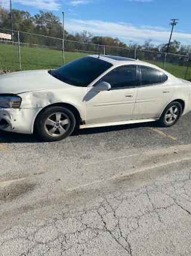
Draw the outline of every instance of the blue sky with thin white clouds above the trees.
[[[10,8],[10,0],[0,0]],[[68,32],[88,31],[94,35],[118,37],[126,44],[143,44],[149,38],[155,46],[172,40],[191,45],[190,0],[12,0],[12,8],[37,14],[52,11]]]

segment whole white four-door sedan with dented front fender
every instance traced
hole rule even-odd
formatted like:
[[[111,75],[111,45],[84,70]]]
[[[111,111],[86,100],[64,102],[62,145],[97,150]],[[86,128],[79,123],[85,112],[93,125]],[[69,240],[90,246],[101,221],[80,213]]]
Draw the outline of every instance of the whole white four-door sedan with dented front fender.
[[[159,121],[191,110],[191,83],[134,59],[87,56],[0,76],[0,129],[62,140],[73,129]]]

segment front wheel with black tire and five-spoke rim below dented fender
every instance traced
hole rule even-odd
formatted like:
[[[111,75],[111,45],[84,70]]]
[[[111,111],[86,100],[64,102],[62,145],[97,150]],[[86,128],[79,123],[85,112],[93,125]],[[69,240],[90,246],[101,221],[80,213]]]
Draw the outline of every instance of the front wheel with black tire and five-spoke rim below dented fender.
[[[68,137],[75,128],[73,113],[64,107],[42,110],[35,121],[35,131],[46,141],[58,141]]]

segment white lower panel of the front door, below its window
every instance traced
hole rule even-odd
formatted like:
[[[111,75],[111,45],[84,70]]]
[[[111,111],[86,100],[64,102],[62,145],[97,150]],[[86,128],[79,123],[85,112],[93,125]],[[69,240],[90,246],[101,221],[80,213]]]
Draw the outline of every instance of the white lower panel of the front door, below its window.
[[[138,88],[95,92],[89,88],[85,124],[127,121],[131,119]]]

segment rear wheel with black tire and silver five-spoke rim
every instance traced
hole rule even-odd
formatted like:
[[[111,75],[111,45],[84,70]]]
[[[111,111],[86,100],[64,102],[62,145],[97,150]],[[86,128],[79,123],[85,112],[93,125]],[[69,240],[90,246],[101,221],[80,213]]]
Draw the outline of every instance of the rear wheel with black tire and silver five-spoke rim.
[[[162,127],[172,127],[181,116],[182,113],[182,106],[177,101],[172,101],[172,103],[168,104],[165,108],[164,112],[159,119],[159,124]]]

